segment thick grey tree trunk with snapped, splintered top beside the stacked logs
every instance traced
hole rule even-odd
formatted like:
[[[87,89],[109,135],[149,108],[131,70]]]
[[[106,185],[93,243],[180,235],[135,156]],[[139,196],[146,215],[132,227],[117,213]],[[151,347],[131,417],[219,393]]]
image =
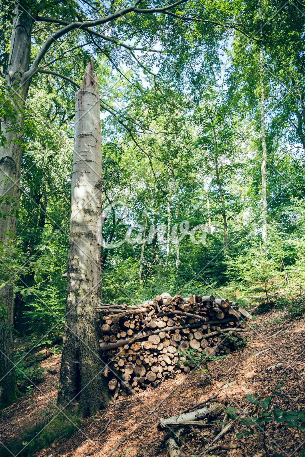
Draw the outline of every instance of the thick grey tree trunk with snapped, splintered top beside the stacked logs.
[[[92,59],[75,101],[66,320],[57,400],[71,411],[78,405],[80,416],[110,401],[95,313],[102,282],[101,175],[100,104]]]

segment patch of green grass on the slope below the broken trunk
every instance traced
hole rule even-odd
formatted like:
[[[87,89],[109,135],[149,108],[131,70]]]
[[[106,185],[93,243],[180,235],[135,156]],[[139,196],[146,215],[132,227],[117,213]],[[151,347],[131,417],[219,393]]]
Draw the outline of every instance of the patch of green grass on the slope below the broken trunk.
[[[35,452],[40,451],[54,442],[68,440],[80,429],[80,419],[77,414],[68,416],[54,414],[53,418],[46,417],[42,422],[36,424],[32,429],[22,432],[20,441],[6,444],[2,451],[2,457],[17,455],[18,457],[31,457]]]

